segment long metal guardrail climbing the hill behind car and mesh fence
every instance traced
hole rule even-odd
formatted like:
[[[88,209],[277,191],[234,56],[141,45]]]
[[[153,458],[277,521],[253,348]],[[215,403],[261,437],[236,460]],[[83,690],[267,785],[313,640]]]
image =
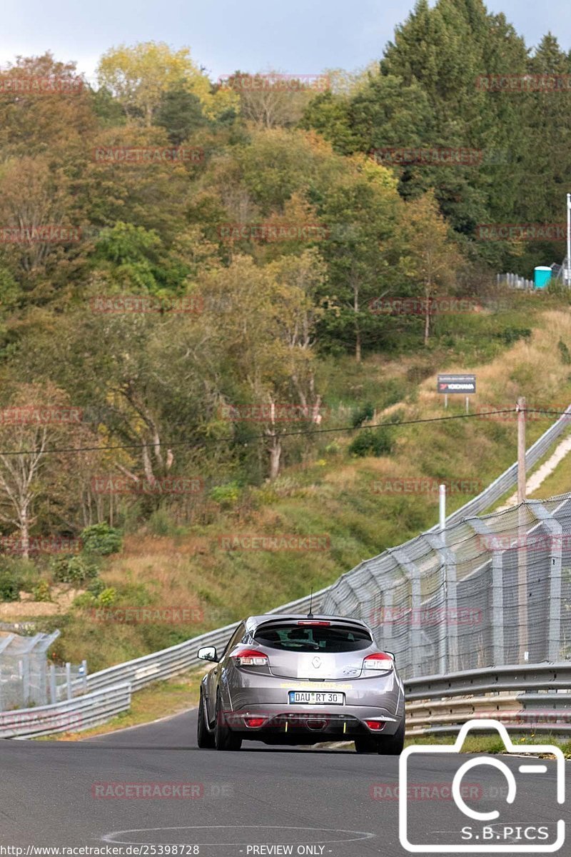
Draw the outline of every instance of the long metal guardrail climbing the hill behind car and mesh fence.
[[[571,418],[571,405],[568,406],[565,414],[560,417],[556,423],[554,423],[544,434],[541,435],[538,440],[527,450],[526,452],[526,464],[528,467],[531,467],[533,464],[536,464],[540,458],[543,457],[544,453],[548,450],[550,445],[556,440],[560,434],[567,428],[568,421]],[[461,506],[460,509],[457,509],[449,518],[447,518],[447,525],[455,524],[456,522],[461,521],[463,518],[468,518],[473,515],[478,514],[478,512],[483,512],[488,509],[494,502],[499,500],[503,494],[509,491],[510,488],[513,488],[517,481],[517,464],[512,464],[508,470],[505,470],[501,476],[498,476],[494,482],[491,482],[491,485],[488,488],[478,495],[478,497],[473,498],[473,500],[469,500],[464,506]],[[437,525],[431,528],[431,530],[427,530],[428,534],[434,533],[438,529]],[[391,548],[391,551],[398,551],[400,548]],[[390,551],[385,552],[386,555],[390,554]],[[373,558],[373,560],[367,560],[368,562],[378,562],[378,560],[382,559],[385,554],[380,554],[379,557]],[[354,568],[353,572],[347,572],[342,575],[335,584],[332,584],[329,587],[325,587],[323,590],[319,590],[318,592],[313,594],[313,609],[315,612],[318,612],[324,602],[327,600],[327,596],[331,590],[335,589],[336,586],[340,583],[341,580],[348,581],[351,578],[351,575],[354,572],[361,570],[361,572],[366,566],[366,563],[360,563],[359,566]],[[370,573],[370,572],[369,572]],[[289,613],[289,612],[297,612],[297,613],[305,613],[309,607],[309,596],[304,598],[300,598],[297,601],[289,602],[288,604],[283,604],[281,607],[277,607],[271,611],[270,613]],[[224,626],[223,628],[217,628],[215,631],[206,632],[205,634],[199,635],[199,637],[195,637],[190,640],[186,640],[184,643],[177,644],[175,646],[171,646],[169,649],[164,649],[158,652],[153,652],[151,655],[146,655],[140,658],[135,658],[133,661],[125,662],[117,664],[114,667],[110,667],[104,670],[101,670],[98,673],[94,673],[92,675],[87,676],[86,687],[87,687],[87,696],[84,697],[74,697],[74,700],[71,703],[76,706],[76,710],[78,710],[77,706],[80,704],[80,699],[83,700],[86,705],[90,704],[89,700],[93,699],[93,693],[102,690],[111,690],[117,685],[128,685],[130,690],[137,691],[140,690],[141,687],[144,687],[148,684],[151,684],[153,681],[168,679],[171,676],[179,674],[187,669],[194,668],[199,666],[202,662],[200,662],[196,656],[197,650],[201,645],[216,645],[217,647],[223,648],[237,627],[238,623],[235,622],[231,625]],[[83,681],[81,680],[76,683],[74,686],[75,692],[80,692],[81,686],[83,686]],[[523,689],[523,688],[520,688]],[[65,705],[65,704],[64,704]],[[47,708],[51,708],[52,706],[46,706]],[[110,707],[110,710],[107,716],[103,716],[101,710],[101,701],[98,700],[98,716],[100,719],[98,722],[104,722],[105,719],[109,719],[112,716],[115,716],[117,713],[115,707]],[[124,709],[122,709],[124,710]],[[32,710],[21,710],[18,712],[21,715],[25,715],[29,711],[38,712],[39,709]],[[9,713],[8,713],[9,714]],[[14,716],[14,713],[12,713]],[[0,720],[0,728],[2,721]],[[88,727],[85,727],[88,728]],[[53,731],[58,731],[54,729]],[[61,731],[61,730],[59,730]],[[39,733],[38,733],[39,734]],[[43,732],[42,734],[49,734],[47,732]]]

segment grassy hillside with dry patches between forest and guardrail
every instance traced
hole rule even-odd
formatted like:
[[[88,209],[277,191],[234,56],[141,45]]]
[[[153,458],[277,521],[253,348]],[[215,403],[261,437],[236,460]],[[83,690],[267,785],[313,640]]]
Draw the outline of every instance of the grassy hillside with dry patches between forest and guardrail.
[[[450,480],[451,512],[516,454],[514,415],[462,418],[462,396],[449,397],[445,411],[437,371],[477,375],[473,413],[513,408],[520,395],[529,407],[571,402],[567,306],[547,294],[512,296],[510,304],[441,318],[429,349],[407,353],[405,345],[362,363],[324,359],[326,430],[297,463],[257,485],[220,482],[187,519],[164,504],[134,526],[126,505],[113,526],[84,531],[81,554],[4,559],[0,620],[27,621],[30,632],[59,628],[51,656],[86,658],[92,672],[306,596],[429,528],[437,521],[437,491],[403,492],[399,481]],[[459,418],[404,424],[433,417]],[[529,421],[528,446],[553,419]],[[456,482],[472,490],[455,491]],[[325,541],[318,550],[243,548],[245,536],[291,535]],[[127,608],[189,608],[190,620],[113,618]]]

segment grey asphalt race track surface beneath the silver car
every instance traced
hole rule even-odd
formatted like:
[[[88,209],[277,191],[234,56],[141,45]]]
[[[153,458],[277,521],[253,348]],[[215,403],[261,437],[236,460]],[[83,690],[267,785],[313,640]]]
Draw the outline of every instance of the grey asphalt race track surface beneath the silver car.
[[[199,750],[195,728],[193,710],[91,740],[0,740],[0,846],[144,843],[149,847],[140,854],[152,855],[173,854],[165,846],[177,844],[184,846],[177,852],[184,857],[407,854],[399,842],[398,758],[357,755],[348,749],[270,748],[255,742],[244,743],[240,752]],[[409,782],[414,782],[415,795],[423,794],[421,784],[426,790],[425,799],[408,801],[413,842],[455,847],[462,842],[464,824],[473,824],[474,831],[482,827],[463,816],[444,791],[443,784],[451,782],[459,767],[458,758],[471,757],[416,758]],[[554,797],[555,763],[540,760],[547,770],[532,776],[518,772],[524,759],[503,759],[518,781],[509,824],[526,829],[550,824],[554,830],[566,812]],[[501,772],[486,766],[462,782],[474,789],[473,802],[467,800],[470,806],[480,812],[502,810],[506,821]],[[165,783],[192,783],[187,788],[195,796],[125,798],[115,794],[116,785],[102,785],[109,783],[162,784],[161,789]],[[102,788],[113,794],[101,796]],[[521,832],[514,831],[503,834],[503,854],[517,854]],[[153,851],[152,845],[163,848]],[[21,854],[39,852],[24,848]],[[571,854],[571,843],[559,854]]]

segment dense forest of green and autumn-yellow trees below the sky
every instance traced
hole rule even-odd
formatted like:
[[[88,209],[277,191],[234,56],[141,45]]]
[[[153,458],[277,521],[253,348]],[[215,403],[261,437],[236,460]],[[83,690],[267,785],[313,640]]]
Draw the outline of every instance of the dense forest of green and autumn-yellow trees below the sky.
[[[211,81],[154,43],[111,48],[97,85],[49,52],[3,69],[3,533],[109,520],[105,473],[206,490],[277,476],[306,448],[283,431],[318,423],[325,355],[394,351],[403,331],[422,347],[433,297],[562,261],[561,241],[478,239],[478,225],[561,223],[571,174],[571,87],[478,87],[492,74],[571,75],[571,55],[550,34],[532,53],[480,0],[420,0],[378,63],[327,72],[326,89]],[[70,86],[18,84],[33,79]],[[481,159],[372,157],[387,147]],[[150,311],[118,300],[136,296]],[[379,297],[428,313],[373,313]],[[237,405],[261,411],[229,418]],[[285,427],[284,405],[300,415]],[[141,498],[144,516],[159,497]]]

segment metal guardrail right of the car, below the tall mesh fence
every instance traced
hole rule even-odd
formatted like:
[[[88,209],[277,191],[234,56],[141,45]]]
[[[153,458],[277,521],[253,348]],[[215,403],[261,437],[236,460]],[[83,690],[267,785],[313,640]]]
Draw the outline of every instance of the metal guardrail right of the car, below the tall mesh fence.
[[[533,692],[538,691],[538,692]],[[571,662],[517,664],[405,681],[407,736],[455,734],[467,720],[571,735]]]

